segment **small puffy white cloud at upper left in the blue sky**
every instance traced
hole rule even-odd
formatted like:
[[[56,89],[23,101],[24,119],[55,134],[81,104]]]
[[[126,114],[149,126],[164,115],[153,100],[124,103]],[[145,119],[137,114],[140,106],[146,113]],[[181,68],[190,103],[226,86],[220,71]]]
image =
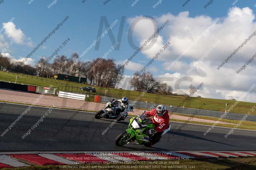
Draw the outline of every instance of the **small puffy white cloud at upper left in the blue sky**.
[[[26,37],[21,29],[17,29],[13,22],[3,23],[3,26],[5,28],[4,33],[7,35],[7,37],[17,39],[15,43],[26,44],[30,47],[33,46],[31,39],[29,37]]]

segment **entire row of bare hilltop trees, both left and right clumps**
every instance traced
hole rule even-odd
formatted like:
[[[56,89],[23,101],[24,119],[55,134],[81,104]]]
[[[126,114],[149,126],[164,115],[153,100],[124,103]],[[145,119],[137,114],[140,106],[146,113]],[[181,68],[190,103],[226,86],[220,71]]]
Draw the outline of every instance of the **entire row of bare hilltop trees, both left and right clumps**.
[[[58,55],[53,59],[52,63],[49,63],[47,59],[46,57],[41,57],[36,65],[32,67],[29,64],[15,62],[12,58],[4,57],[0,54],[0,70],[46,78],[53,78],[54,75],[58,74],[66,74],[87,78],[88,85],[110,88],[115,88],[122,80],[124,74],[124,67],[121,64],[117,65],[114,59],[96,58],[92,61],[82,62],[78,60],[79,56],[77,53],[72,54],[69,58],[65,55]],[[150,72],[143,72],[140,75],[138,71],[135,72],[130,83],[131,87],[136,91],[147,90],[147,92],[151,93],[175,96],[187,95],[174,93],[171,85],[156,81]],[[149,86],[151,86],[150,89],[148,89]],[[193,89],[195,87],[190,85],[189,91],[191,92]]]

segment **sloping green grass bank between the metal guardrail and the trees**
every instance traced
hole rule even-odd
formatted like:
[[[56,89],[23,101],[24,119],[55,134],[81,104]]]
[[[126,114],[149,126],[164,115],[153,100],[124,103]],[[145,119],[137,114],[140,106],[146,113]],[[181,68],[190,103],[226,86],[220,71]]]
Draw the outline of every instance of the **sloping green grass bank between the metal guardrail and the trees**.
[[[13,73],[7,73],[0,71],[0,80],[3,81],[11,81],[15,82],[17,74]],[[20,77],[18,78],[17,82],[18,83],[24,83],[24,84],[29,84],[29,85],[39,85],[39,86],[44,86],[44,87],[49,87],[50,85],[53,85],[53,87],[60,87],[60,86],[73,86],[73,87],[82,87],[86,86],[81,83],[75,83],[75,82],[68,82],[64,80],[54,80],[54,79],[49,79],[49,78],[41,78],[41,77],[36,77],[36,76],[27,76],[27,75],[19,75]],[[93,86],[97,90],[100,87]],[[135,100],[138,96],[140,96],[141,92],[137,91],[130,91],[130,90],[122,90],[122,89],[113,89],[113,88],[101,88],[100,92],[105,93],[105,91],[108,90],[107,93],[110,94],[118,94],[120,96],[127,96],[129,100]],[[196,96],[196,94],[195,94]],[[167,106],[172,105],[173,107],[179,105],[183,100],[185,99],[184,96],[164,96],[164,95],[159,95],[159,94],[151,94],[151,93],[146,93],[140,101],[148,101],[148,103],[159,103],[159,104],[164,104]],[[225,111],[225,104],[228,103],[228,108],[231,107],[232,104],[234,104],[234,100],[220,100],[220,99],[208,99],[208,98],[197,98],[197,97],[192,97],[191,100],[188,100],[184,106],[188,108],[198,108],[200,107],[203,103],[205,103],[204,110],[212,110],[212,111],[220,111],[224,112]],[[255,103],[251,102],[239,102],[236,107],[231,111],[232,113],[238,113],[238,114],[247,114],[247,112],[250,111],[252,107],[256,106]],[[256,112],[253,112],[252,115],[256,115]]]

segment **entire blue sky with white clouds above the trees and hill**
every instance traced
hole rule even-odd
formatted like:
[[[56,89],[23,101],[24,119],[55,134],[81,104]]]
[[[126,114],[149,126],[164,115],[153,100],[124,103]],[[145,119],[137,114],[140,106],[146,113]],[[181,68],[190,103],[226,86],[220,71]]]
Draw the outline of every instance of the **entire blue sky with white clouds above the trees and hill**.
[[[50,56],[67,38],[70,42],[61,49],[59,55],[69,57],[74,52],[80,55],[97,39],[101,18],[105,16],[109,24],[118,20],[112,33],[115,41],[119,33],[121,37],[120,49],[112,51],[108,58],[114,58],[116,63],[123,64],[135,51],[129,41],[132,40],[136,46],[142,45],[155,32],[156,25],[162,26],[168,20],[155,38],[154,45],[139,52],[125,66],[124,78],[131,78],[135,71],[146,66],[170,42],[146,71],[172,87],[180,79],[189,77],[180,83],[180,90],[183,92],[187,92],[190,84],[197,86],[203,82],[203,87],[196,95],[215,99],[239,99],[256,83],[255,61],[246,65],[241,73],[236,73],[256,53],[256,37],[252,37],[227,63],[217,69],[234,49],[256,31],[255,1],[243,0],[234,4],[234,0],[215,0],[204,8],[206,2],[203,1],[190,1],[184,6],[185,0],[163,0],[153,8],[157,0],[140,0],[134,6],[131,5],[133,0],[109,1],[105,5],[104,0],[87,0],[84,3],[82,0],[59,0],[50,9],[47,5],[52,3],[51,0],[35,0],[31,4],[28,2],[29,0],[19,1],[17,4],[16,1],[8,0],[0,4],[0,49],[2,51],[5,48],[3,55],[15,61],[21,61],[27,56],[66,16],[69,16],[67,22],[28,59],[27,64],[34,65],[41,56]],[[122,16],[125,16],[123,20]],[[138,18],[140,19],[132,29],[131,36],[129,30]],[[123,22],[124,26],[120,26]],[[104,25],[103,31],[105,29]],[[14,44],[6,48],[13,39],[16,39]],[[112,41],[106,35],[100,41],[99,50],[93,47],[82,61],[101,57],[111,46]],[[183,55],[179,61],[172,64],[181,54]],[[202,62],[198,63],[200,58]],[[194,69],[187,73],[192,67]],[[130,89],[129,84],[124,88]],[[255,102],[255,93],[256,88],[243,101]]]

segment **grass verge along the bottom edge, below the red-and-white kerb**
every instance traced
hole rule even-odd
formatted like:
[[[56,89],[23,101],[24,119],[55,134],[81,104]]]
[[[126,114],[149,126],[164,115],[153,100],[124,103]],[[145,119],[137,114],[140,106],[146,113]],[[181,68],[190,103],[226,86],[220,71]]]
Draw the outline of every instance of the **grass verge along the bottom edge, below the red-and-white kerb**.
[[[78,168],[68,168],[72,165],[65,166],[27,166],[14,168],[15,170],[89,170],[89,169],[117,169],[117,170],[130,170],[130,169],[196,169],[196,170],[243,170],[243,169],[255,169],[256,158],[227,158],[227,159],[188,159],[188,160],[163,160],[163,161],[151,161],[147,163],[145,161],[131,162],[129,164],[77,164]],[[81,168],[79,168],[79,166]],[[111,167],[112,166],[112,167]],[[114,167],[115,166],[115,167]],[[122,167],[123,166],[123,167]],[[136,168],[137,166],[137,168]],[[169,168],[168,168],[169,166]],[[180,166],[180,168],[178,167]],[[183,166],[183,167],[181,167]],[[184,168],[186,167],[187,168]],[[165,168],[166,167],[166,168]],[[189,168],[190,167],[190,168]],[[12,168],[3,168],[2,170],[12,170]]]

